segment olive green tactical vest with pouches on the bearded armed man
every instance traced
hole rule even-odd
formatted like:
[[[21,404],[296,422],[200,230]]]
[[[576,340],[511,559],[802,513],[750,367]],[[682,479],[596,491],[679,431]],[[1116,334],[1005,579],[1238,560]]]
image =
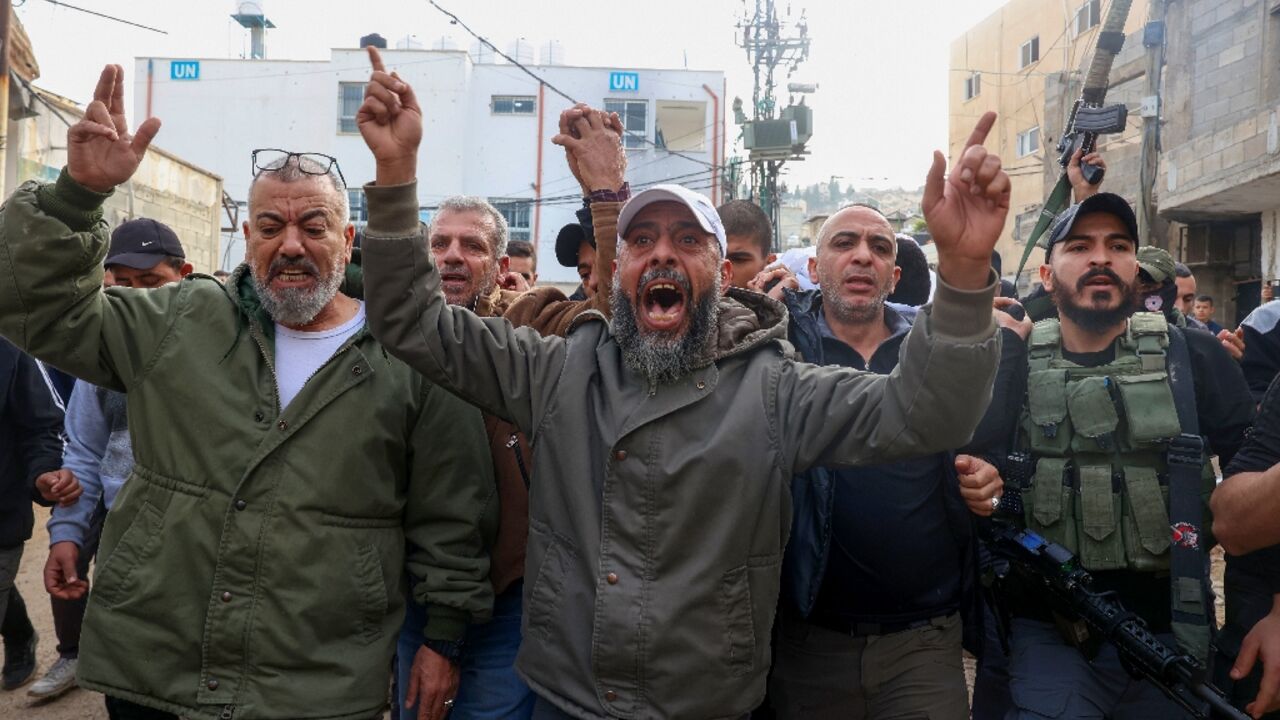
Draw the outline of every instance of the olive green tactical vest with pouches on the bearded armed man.
[[[1023,492],[1025,521],[1075,552],[1087,570],[1170,573],[1179,532],[1169,514],[1170,451],[1181,427],[1167,348],[1169,325],[1158,313],[1134,314],[1115,341],[1115,359],[1097,368],[1062,357],[1059,320],[1032,331],[1019,433],[1021,450],[1036,460]],[[1189,377],[1181,392],[1194,392]],[[1207,518],[1215,482],[1203,452],[1199,465]],[[1183,528],[1193,536],[1207,529],[1207,520]],[[1207,537],[1179,539],[1202,555],[1211,544]],[[1208,652],[1208,589],[1207,573],[1172,578],[1174,632],[1199,657]]]

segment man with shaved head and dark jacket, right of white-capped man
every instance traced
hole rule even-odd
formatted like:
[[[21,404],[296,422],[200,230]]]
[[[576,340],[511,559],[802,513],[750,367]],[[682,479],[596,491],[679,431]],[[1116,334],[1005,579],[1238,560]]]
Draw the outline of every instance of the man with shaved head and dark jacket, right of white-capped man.
[[[787,290],[771,293],[791,313],[787,337],[805,361],[883,375],[897,368],[923,316],[884,301],[901,273],[897,247],[873,208],[849,206],[823,223],[809,270],[819,290],[783,282]],[[996,470],[945,448],[813,468],[792,480],[769,682],[780,717],[968,717],[961,634],[978,607],[970,510],[992,509],[989,498],[966,507],[957,475],[979,474]]]

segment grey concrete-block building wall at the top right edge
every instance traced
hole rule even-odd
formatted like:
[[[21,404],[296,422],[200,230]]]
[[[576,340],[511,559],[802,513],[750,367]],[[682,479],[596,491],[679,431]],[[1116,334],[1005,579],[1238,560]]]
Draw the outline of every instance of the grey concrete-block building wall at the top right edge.
[[[1274,0],[1169,4],[1164,152],[1156,197],[1171,246],[1210,232],[1192,269],[1234,323],[1280,277],[1280,17]]]

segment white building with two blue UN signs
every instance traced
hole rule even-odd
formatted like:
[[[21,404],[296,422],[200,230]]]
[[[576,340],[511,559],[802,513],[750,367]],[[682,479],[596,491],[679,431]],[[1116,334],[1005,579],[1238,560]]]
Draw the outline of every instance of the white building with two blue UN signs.
[[[550,142],[561,110],[571,105],[557,88],[623,118],[634,188],[678,182],[721,202],[723,72],[531,65],[543,85],[511,64],[404,45],[381,53],[422,105],[424,219],[451,195],[488,197],[507,215],[512,237],[536,240],[544,281],[577,281],[575,270],[556,263],[553,247],[581,206],[564,152]],[[333,155],[352,188],[374,179],[374,159],[355,122],[369,78],[364,50],[335,49],[325,61],[137,58],[133,78],[133,117],[164,120],[165,149],[220,174],[241,204],[252,179],[251,152],[260,147]],[[364,208],[353,190],[357,223]],[[224,241],[233,243],[228,264],[239,263],[243,236]]]

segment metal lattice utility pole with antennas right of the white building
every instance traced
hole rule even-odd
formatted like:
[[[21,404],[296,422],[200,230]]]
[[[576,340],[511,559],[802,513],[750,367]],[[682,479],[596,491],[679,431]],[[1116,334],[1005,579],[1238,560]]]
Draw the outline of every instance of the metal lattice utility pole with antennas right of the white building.
[[[787,6],[790,14],[790,5]],[[809,58],[809,31],[804,13],[796,23],[796,36],[785,37],[783,26],[778,20],[774,0],[755,0],[755,12],[739,24],[742,31],[741,47],[751,63],[755,83],[751,91],[751,119],[754,122],[772,120],[777,117],[777,82],[774,73],[780,65],[794,72],[801,61]],[[778,196],[778,174],[786,159],[751,160],[751,195],[759,202],[764,214],[773,223],[773,246],[781,250],[780,223],[782,219],[781,197]]]

